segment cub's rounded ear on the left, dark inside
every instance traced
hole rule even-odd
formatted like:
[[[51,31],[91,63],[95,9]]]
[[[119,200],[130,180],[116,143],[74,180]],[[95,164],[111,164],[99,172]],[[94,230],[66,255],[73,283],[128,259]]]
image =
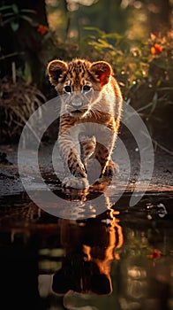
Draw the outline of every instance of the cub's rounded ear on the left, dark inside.
[[[64,61],[52,60],[48,64],[49,81],[56,86],[59,78],[67,71],[68,66]]]

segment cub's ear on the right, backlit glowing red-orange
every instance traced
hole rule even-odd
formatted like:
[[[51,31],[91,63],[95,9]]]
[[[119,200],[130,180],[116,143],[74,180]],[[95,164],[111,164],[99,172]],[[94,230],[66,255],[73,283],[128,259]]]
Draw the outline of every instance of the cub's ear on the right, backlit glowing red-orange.
[[[109,82],[109,76],[113,74],[111,66],[106,61],[97,61],[90,66],[90,71],[99,78],[101,85]]]

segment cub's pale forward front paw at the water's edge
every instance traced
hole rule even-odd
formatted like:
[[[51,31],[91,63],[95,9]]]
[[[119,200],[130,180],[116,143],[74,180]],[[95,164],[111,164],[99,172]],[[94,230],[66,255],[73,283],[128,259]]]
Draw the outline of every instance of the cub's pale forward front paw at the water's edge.
[[[68,189],[85,190],[89,187],[87,178],[77,178],[74,176],[64,178],[62,186]]]

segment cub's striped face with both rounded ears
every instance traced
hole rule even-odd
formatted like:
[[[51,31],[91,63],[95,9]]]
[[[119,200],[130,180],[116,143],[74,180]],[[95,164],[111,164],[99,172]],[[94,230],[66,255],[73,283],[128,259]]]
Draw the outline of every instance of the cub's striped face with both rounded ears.
[[[92,110],[104,85],[109,82],[112,68],[104,61],[90,63],[86,59],[74,59],[69,64],[53,60],[48,65],[49,81],[63,95],[64,112],[82,118]]]

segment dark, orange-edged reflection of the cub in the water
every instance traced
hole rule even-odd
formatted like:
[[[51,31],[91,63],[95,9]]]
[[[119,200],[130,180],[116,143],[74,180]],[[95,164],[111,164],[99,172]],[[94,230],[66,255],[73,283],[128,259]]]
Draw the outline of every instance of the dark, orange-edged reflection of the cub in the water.
[[[58,220],[65,256],[62,267],[53,275],[55,293],[76,291],[105,295],[112,292],[111,262],[124,237],[118,212],[110,208],[109,198],[104,198],[107,211],[94,219]]]

